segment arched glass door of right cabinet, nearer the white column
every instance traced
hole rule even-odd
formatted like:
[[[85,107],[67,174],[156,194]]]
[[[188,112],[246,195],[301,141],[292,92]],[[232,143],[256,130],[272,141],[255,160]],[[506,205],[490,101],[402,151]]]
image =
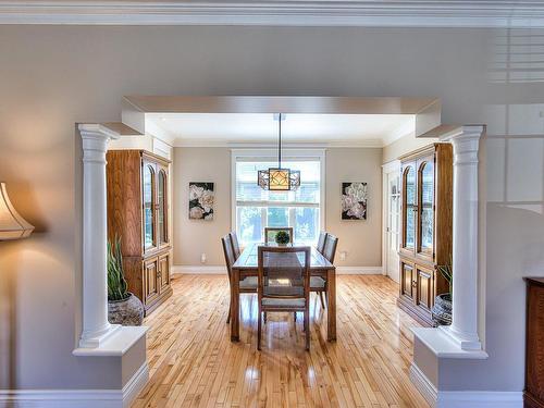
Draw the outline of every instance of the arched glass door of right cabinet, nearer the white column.
[[[432,256],[434,246],[434,161],[419,165],[418,252]]]

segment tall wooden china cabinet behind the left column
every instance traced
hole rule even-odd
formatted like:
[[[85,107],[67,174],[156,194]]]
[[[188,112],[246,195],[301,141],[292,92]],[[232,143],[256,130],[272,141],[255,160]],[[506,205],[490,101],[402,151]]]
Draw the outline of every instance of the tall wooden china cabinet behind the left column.
[[[128,290],[148,314],[172,295],[170,161],[144,150],[110,150],[106,158],[108,237],[121,238]]]

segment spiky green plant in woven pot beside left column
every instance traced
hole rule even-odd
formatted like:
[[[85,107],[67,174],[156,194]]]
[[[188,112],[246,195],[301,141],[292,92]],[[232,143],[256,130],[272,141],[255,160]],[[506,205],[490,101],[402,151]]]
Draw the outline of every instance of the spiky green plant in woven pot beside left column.
[[[144,305],[127,290],[123,272],[121,239],[108,242],[108,320],[122,325],[141,325]]]

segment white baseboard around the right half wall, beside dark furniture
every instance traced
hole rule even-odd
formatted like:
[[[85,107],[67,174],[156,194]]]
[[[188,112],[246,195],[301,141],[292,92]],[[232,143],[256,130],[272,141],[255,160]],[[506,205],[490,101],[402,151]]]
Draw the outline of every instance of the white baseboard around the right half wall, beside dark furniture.
[[[434,408],[522,408],[522,392],[505,391],[437,391],[426,375],[412,362],[410,380],[423,398]]]

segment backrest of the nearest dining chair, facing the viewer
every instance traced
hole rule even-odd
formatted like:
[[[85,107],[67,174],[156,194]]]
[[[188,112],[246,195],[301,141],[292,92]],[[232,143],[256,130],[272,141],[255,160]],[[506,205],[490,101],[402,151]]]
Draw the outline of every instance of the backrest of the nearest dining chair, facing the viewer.
[[[310,247],[267,247],[258,250],[259,296],[304,298],[310,287]]]

